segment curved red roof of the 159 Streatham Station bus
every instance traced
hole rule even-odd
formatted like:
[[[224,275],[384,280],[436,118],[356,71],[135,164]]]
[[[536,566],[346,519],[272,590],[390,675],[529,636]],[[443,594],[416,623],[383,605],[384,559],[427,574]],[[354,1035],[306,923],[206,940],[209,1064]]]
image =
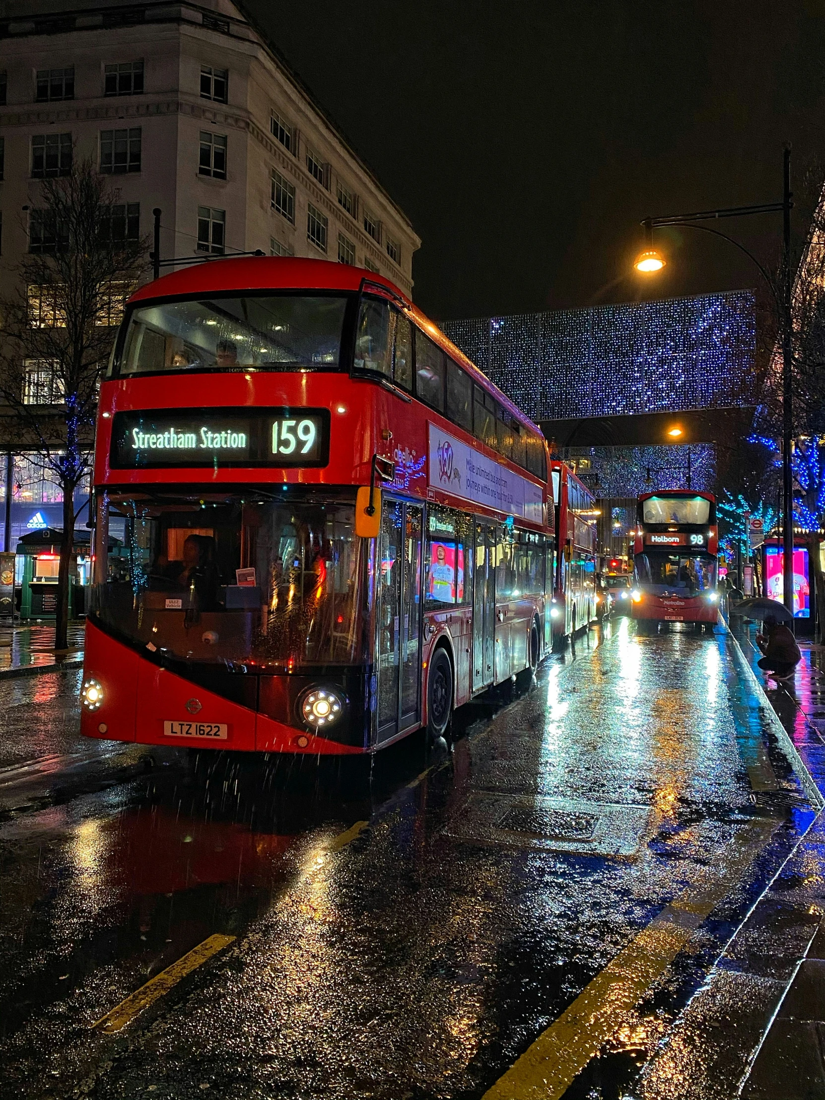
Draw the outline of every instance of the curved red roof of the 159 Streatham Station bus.
[[[183,271],[162,275],[152,283],[145,283],[129,299],[129,304],[157,298],[178,298],[184,295],[230,294],[243,290],[344,290],[358,292],[366,282],[377,289],[386,290],[422,328],[432,340],[452,359],[466,370],[468,374],[483,386],[516,419],[538,432],[543,433],[518,406],[494,385],[483,371],[448,340],[437,324],[426,317],[417,306],[388,278],[364,267],[350,264],[334,264],[329,260],[309,260],[299,256],[239,256],[237,260],[205,260],[191,264]]]

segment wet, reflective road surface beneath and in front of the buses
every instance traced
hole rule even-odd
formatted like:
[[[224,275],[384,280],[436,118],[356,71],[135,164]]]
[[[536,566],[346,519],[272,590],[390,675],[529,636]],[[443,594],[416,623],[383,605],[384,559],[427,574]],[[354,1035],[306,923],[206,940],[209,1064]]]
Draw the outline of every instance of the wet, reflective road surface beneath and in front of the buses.
[[[813,816],[722,631],[322,768],[89,744],[77,688],[0,683],[2,1097],[629,1098]]]

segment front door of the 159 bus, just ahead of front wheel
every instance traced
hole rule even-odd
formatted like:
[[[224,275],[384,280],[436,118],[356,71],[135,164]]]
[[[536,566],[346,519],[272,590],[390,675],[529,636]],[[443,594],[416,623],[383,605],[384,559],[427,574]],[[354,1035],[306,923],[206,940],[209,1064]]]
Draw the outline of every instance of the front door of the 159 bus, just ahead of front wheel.
[[[378,553],[378,735],[381,745],[420,722],[422,509],[382,502]]]

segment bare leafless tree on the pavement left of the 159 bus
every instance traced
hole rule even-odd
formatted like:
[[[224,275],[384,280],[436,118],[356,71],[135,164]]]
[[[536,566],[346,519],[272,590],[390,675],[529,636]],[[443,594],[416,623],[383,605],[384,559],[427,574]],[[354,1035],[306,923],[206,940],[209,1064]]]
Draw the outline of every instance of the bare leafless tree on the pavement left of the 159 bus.
[[[91,469],[100,378],[147,240],[120,191],[88,160],[43,180],[29,211],[30,251],[0,302],[0,400],[21,444],[63,491],[55,648],[66,646],[75,492]]]

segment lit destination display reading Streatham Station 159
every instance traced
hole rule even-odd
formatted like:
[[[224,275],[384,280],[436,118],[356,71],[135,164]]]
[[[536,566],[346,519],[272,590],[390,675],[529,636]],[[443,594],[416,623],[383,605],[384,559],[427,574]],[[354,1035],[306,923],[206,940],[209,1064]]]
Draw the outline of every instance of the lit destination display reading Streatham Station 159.
[[[111,465],[319,466],[329,458],[327,409],[150,409],[116,413]]]

